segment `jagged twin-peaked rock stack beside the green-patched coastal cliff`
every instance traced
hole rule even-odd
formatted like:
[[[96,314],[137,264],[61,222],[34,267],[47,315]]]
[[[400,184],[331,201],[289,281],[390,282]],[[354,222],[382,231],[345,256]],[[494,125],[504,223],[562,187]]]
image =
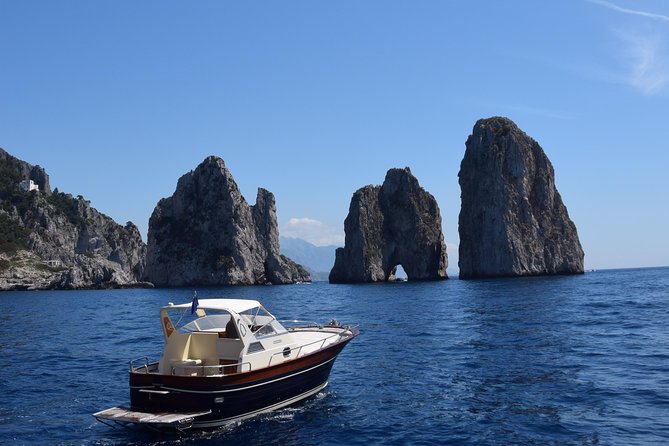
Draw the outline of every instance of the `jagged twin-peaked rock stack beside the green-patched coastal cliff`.
[[[285,284],[309,273],[279,254],[274,195],[249,206],[218,157],[182,176],[149,220],[146,279],[156,286]]]

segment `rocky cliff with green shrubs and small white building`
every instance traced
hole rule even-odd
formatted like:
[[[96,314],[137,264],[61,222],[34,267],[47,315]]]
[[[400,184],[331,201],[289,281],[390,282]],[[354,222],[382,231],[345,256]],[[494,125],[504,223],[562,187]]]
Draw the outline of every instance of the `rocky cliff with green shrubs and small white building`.
[[[38,190],[19,188],[33,180]],[[49,176],[0,149],[0,289],[137,286],[146,246],[83,197],[51,191]]]

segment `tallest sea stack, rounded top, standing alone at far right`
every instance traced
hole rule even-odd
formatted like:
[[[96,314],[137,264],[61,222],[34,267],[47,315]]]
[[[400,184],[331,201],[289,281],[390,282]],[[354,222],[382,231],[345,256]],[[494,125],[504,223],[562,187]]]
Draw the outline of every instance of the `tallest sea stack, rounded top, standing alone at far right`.
[[[583,273],[553,166],[511,120],[476,123],[458,177],[460,278]]]

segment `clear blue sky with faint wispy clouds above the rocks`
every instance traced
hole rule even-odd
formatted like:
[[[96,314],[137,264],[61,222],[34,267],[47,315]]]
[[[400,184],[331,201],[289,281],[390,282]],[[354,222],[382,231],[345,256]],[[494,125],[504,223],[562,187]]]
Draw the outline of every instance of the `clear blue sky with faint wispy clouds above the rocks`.
[[[0,147],[146,237],[206,156],[282,235],[343,243],[352,193],[411,167],[457,273],[479,118],[553,163],[586,268],[669,265],[669,2],[0,0]]]

